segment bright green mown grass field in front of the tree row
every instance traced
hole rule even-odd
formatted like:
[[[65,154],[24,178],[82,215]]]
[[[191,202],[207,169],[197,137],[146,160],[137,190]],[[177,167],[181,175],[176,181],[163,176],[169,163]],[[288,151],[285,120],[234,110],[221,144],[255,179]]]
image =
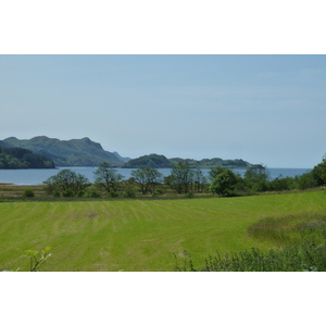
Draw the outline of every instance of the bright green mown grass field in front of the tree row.
[[[41,271],[174,271],[217,251],[268,249],[248,235],[271,216],[324,213],[323,191],[185,200],[0,202],[0,271],[28,269],[27,249],[52,247]]]

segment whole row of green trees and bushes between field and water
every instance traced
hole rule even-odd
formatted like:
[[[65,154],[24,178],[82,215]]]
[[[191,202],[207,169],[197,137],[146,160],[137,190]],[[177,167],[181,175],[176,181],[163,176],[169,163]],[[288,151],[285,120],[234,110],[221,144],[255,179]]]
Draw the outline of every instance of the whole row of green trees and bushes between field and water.
[[[243,177],[231,170],[215,166],[204,176],[200,168],[190,168],[187,162],[175,164],[168,176],[163,176],[154,167],[139,167],[131,177],[123,176],[109,163],[101,163],[95,171],[91,184],[82,174],[63,170],[45,181],[47,189],[55,197],[126,197],[137,196],[173,197],[184,195],[187,198],[196,193],[246,196],[266,191],[304,190],[326,184],[326,159],[311,172],[296,177],[277,177],[269,180],[264,166],[250,166]]]

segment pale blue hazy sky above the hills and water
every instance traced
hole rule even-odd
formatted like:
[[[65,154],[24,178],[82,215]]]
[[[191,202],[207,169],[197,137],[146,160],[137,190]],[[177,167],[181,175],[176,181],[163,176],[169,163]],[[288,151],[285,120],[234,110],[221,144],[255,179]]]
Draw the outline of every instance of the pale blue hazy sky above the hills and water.
[[[0,139],[312,167],[325,104],[325,55],[0,55]]]

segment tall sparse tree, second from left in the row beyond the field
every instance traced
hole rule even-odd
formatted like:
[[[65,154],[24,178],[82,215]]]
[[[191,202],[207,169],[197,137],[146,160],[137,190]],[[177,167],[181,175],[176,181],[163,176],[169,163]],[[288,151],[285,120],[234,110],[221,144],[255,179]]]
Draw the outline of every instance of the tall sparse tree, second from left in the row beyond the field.
[[[95,184],[108,193],[115,192],[118,183],[123,179],[123,175],[118,174],[116,170],[111,168],[106,162],[100,163],[93,174],[96,177]]]

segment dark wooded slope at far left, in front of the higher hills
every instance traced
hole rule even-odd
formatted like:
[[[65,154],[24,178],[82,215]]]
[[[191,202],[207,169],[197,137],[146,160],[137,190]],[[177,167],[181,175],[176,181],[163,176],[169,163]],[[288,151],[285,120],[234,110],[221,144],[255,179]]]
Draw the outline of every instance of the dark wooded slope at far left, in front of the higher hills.
[[[54,163],[26,149],[0,146],[0,168],[54,168]]]

